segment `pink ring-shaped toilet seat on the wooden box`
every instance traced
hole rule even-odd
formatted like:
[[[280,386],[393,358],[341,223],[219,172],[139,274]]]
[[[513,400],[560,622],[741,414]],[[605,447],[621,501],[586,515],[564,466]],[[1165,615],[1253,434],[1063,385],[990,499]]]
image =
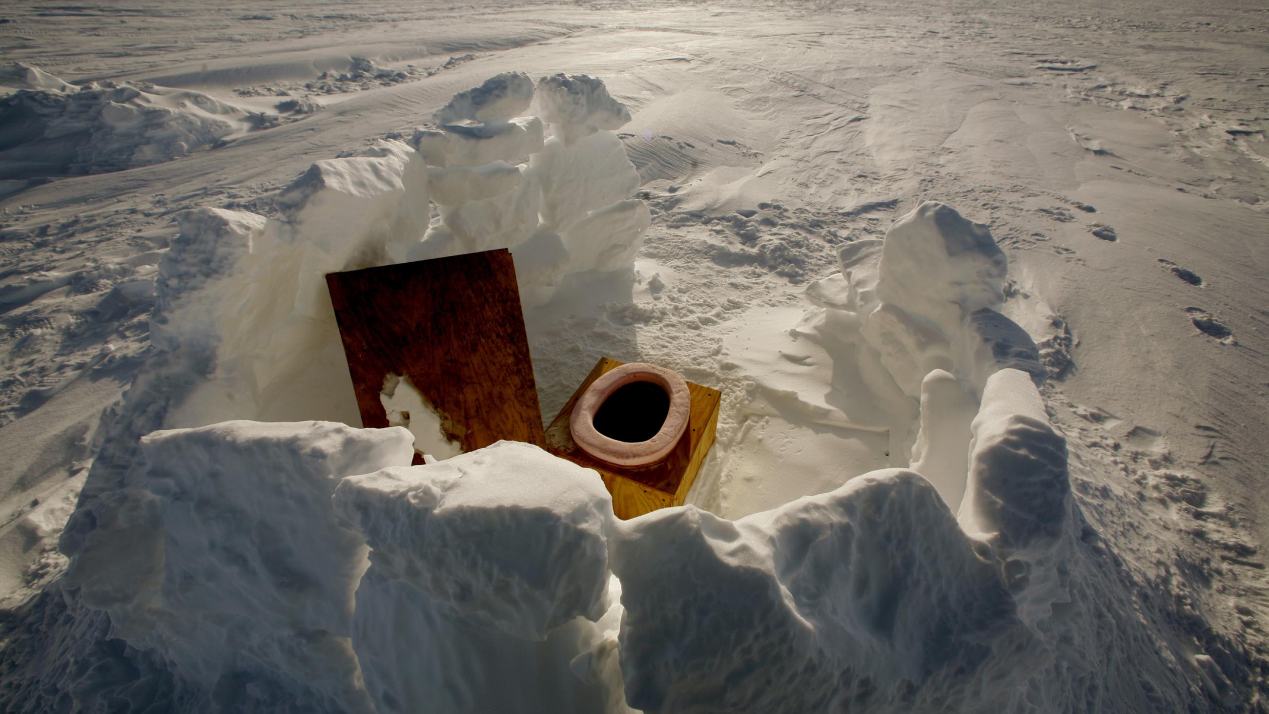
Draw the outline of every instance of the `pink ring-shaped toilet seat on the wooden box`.
[[[670,408],[660,431],[647,441],[618,441],[595,429],[595,413],[618,389],[632,382],[660,385],[670,396]],[[688,429],[692,395],[688,382],[673,370],[645,362],[629,362],[608,371],[582,393],[569,419],[572,440],[591,456],[619,466],[643,466],[665,459]]]

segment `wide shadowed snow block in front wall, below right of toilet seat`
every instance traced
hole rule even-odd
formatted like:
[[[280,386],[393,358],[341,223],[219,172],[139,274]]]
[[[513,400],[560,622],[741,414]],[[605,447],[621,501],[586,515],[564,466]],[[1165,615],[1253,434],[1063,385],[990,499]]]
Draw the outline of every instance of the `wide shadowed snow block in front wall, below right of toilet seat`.
[[[622,527],[613,569],[636,709],[937,710],[943,687],[921,686],[953,672],[987,690],[982,710],[1013,696],[983,672],[992,640],[1022,630],[1009,593],[912,471],[735,522],[689,506]]]

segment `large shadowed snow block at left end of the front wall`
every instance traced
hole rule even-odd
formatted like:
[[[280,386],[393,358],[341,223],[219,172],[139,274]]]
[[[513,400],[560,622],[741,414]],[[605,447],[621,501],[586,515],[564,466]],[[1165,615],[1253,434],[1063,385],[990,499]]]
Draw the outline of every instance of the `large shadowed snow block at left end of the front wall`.
[[[343,476],[409,464],[411,441],[321,422],[150,434],[128,487],[67,526],[66,587],[208,691],[249,672],[261,695],[372,711],[348,639],[365,545],[330,498]]]

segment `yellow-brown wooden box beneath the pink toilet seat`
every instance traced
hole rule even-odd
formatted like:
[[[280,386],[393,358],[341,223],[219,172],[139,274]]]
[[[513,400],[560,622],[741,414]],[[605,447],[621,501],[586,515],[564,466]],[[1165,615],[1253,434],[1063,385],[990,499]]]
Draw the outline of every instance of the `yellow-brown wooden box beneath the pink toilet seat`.
[[[547,427],[546,441],[547,451],[551,454],[599,471],[608,492],[613,494],[613,511],[618,518],[624,520],[650,513],[657,508],[683,506],[688,490],[697,478],[697,471],[700,470],[700,464],[713,445],[722,393],[717,389],[688,382],[688,391],[692,394],[688,429],[674,451],[661,461],[648,466],[617,466],[590,456],[574,443],[572,433],[569,431],[569,419],[577,399],[586,391],[586,387],[604,372],[621,365],[623,362],[608,357],[599,360],[595,368],[590,371],[586,380],[581,382],[577,391]]]

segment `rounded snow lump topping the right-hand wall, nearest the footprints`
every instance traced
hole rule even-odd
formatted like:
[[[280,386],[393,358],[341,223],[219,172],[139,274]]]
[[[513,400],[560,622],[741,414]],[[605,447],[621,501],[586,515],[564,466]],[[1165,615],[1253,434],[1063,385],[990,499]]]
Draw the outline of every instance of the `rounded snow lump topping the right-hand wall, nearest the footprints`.
[[[1008,272],[987,226],[926,201],[886,232],[877,297],[933,320],[950,335],[970,313],[1000,306]]]

